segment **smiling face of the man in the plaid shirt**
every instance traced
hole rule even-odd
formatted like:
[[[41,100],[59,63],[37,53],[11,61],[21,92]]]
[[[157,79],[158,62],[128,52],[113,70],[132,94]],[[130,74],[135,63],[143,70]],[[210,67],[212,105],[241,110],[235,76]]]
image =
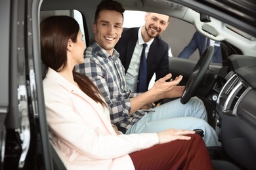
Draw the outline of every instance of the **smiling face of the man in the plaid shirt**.
[[[114,10],[100,11],[98,20],[93,24],[95,41],[109,54],[113,53],[114,46],[121,37],[122,25],[122,14]]]

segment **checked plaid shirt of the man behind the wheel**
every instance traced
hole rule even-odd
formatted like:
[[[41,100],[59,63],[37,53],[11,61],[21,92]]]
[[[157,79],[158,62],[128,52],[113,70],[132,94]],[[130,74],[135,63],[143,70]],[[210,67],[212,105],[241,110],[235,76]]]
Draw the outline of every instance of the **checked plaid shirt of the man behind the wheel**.
[[[129,129],[144,116],[143,110],[129,114],[131,110],[129,98],[140,93],[131,93],[127,89],[125,70],[116,50],[110,55],[93,40],[85,50],[85,63],[77,65],[75,70],[91,78],[102,92],[110,109],[112,124],[119,124]]]

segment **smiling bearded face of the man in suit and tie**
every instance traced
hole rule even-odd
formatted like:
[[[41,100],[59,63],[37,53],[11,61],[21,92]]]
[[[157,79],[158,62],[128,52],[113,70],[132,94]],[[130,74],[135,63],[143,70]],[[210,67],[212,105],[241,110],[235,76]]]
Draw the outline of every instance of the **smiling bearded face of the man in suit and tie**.
[[[153,12],[146,12],[144,20],[145,25],[142,29],[142,37],[145,42],[160,35],[169,24],[169,16]]]

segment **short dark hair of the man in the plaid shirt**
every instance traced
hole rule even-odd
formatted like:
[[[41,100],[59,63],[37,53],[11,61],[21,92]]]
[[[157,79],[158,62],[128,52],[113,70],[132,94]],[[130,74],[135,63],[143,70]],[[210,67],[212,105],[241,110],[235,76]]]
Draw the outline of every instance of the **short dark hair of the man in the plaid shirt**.
[[[98,20],[98,16],[100,14],[100,11],[102,10],[115,10],[116,12],[120,12],[123,16],[123,12],[125,12],[125,9],[123,9],[123,5],[117,1],[113,0],[102,0],[95,11],[95,24]]]

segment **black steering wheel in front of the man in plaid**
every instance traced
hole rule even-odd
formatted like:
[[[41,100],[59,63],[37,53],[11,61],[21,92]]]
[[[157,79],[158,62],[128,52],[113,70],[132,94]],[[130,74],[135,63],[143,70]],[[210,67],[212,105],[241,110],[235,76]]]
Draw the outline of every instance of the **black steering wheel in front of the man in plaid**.
[[[213,52],[214,52],[214,47],[207,46],[207,48],[203,52],[202,56],[198,60],[198,63],[196,63],[196,66],[194,67],[192,74],[188,78],[188,82],[186,82],[186,86],[181,95],[181,103],[182,104],[188,103],[188,101],[194,95],[196,88],[198,88],[200,82],[203,79],[203,76],[205,75],[205,73],[211,63],[211,58],[213,57]]]

